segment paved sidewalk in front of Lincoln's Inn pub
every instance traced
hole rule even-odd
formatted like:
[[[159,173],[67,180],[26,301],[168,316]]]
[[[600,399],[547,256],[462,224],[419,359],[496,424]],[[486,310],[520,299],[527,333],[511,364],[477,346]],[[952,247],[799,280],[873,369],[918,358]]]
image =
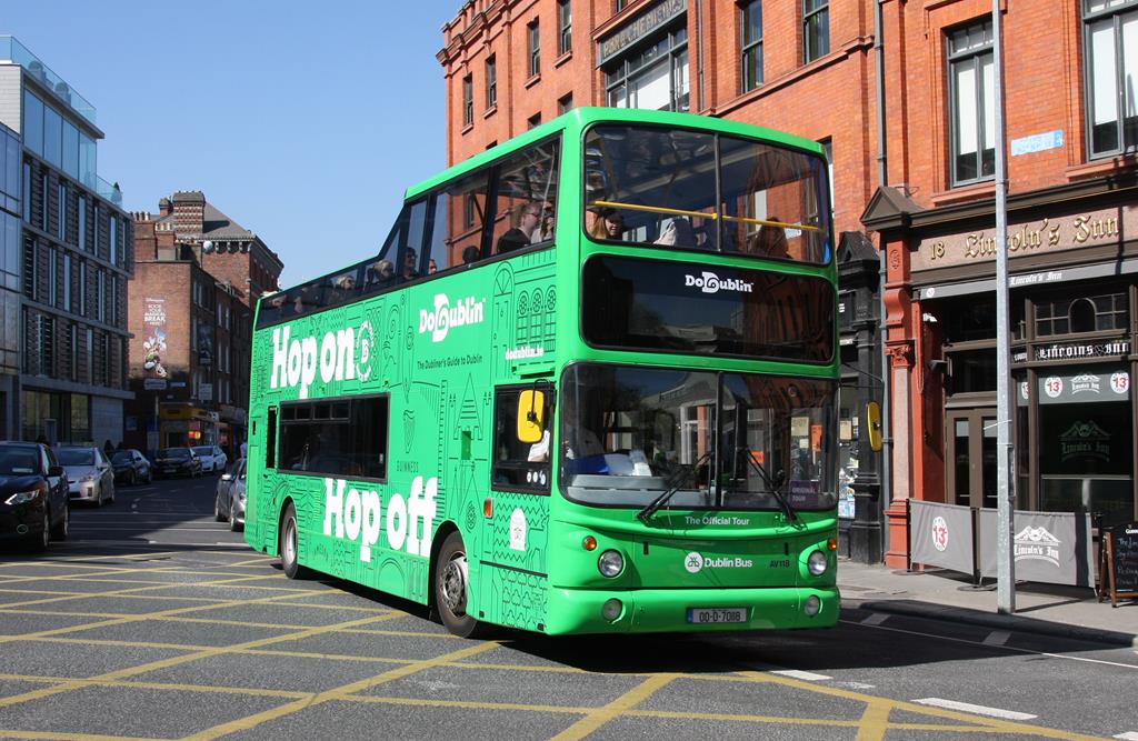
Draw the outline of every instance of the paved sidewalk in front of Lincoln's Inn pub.
[[[986,581],[986,585],[988,582]],[[964,574],[918,574],[848,560],[838,563],[843,608],[915,615],[1005,631],[1132,645],[1138,649],[1138,602],[1099,603],[1094,590],[1055,584],[1016,584],[1015,615],[1000,615],[992,588],[974,590]]]

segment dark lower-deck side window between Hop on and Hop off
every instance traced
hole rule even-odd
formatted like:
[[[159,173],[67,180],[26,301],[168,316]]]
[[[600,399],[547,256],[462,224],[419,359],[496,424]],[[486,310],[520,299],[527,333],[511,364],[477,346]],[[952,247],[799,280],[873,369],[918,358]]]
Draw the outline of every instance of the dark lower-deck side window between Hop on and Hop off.
[[[281,404],[280,468],[386,479],[388,402],[364,396]]]

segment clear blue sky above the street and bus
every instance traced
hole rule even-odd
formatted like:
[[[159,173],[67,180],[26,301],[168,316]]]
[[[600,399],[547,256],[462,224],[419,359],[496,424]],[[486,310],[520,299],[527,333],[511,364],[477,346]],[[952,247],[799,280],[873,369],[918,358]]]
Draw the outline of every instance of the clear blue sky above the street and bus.
[[[435,58],[461,0],[9,0],[16,36],[98,110],[127,211],[201,190],[297,283],[379,244],[446,163]]]

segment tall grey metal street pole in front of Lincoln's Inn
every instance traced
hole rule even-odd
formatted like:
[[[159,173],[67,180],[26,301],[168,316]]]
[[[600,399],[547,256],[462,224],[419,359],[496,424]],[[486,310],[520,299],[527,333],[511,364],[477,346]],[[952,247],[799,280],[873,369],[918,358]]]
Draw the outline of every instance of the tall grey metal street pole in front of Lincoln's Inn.
[[[996,106],[996,608],[1015,612],[1015,559],[1012,557],[1015,514],[1013,509],[1012,382],[1007,294],[1007,171],[1004,158],[1004,44],[999,0],[992,0],[992,76]]]

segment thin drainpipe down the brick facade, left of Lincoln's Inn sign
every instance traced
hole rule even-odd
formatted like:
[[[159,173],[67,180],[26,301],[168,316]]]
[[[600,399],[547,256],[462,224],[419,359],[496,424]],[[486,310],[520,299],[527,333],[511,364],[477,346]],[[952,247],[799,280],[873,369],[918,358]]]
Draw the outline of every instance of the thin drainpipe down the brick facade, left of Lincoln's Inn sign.
[[[881,41],[882,26],[884,25],[882,20],[882,9],[881,6],[884,0],[876,0],[873,3],[873,51],[876,58],[877,69],[876,69],[876,93],[877,93],[877,187],[884,188],[888,184],[889,170],[887,167],[885,159],[885,48]],[[879,234],[879,238],[880,234]],[[884,518],[884,509],[892,502],[893,489],[892,489],[892,471],[893,471],[893,437],[890,434],[892,429],[892,404],[890,403],[890,389],[892,387],[892,370],[889,368],[889,354],[885,352],[885,339],[889,336],[889,330],[885,329],[885,249],[882,245],[881,249],[881,264],[879,266],[879,278],[877,278],[877,312],[879,321],[881,322],[881,500],[879,503],[881,513],[879,517]],[[881,546],[882,555],[889,552],[889,522],[881,522]]]

